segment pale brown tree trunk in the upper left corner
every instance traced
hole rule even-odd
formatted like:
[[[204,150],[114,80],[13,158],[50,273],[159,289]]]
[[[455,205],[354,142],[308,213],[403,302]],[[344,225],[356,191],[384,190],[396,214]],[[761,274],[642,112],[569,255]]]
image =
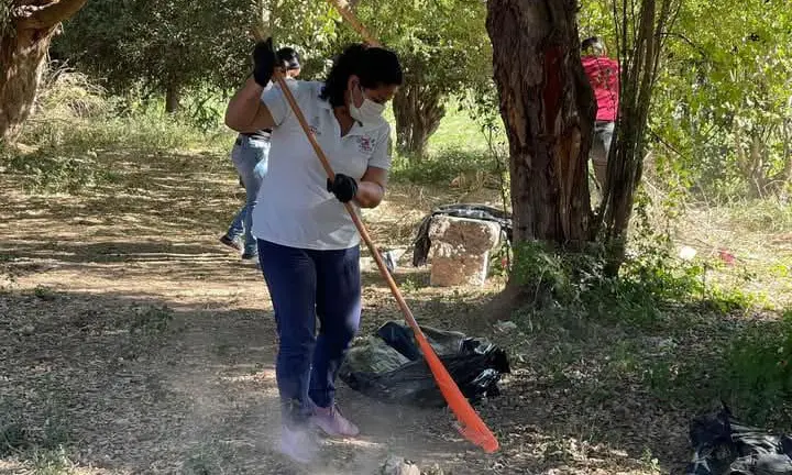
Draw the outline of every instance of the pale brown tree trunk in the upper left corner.
[[[13,141],[35,102],[50,41],[86,0],[14,0],[0,7],[0,139]]]

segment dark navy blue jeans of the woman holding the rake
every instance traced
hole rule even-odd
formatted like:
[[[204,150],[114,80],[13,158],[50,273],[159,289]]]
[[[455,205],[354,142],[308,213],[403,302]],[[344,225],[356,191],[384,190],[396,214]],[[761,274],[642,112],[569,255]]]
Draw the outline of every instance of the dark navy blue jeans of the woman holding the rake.
[[[284,423],[330,407],[336,378],[361,317],[360,247],[312,251],[258,240],[278,334],[275,375]],[[319,335],[316,321],[319,319]]]

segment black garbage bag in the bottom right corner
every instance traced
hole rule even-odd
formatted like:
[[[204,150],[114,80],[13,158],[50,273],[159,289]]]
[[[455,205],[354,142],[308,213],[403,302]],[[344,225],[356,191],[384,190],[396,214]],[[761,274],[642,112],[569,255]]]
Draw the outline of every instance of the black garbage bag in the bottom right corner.
[[[792,475],[792,439],[737,422],[729,409],[693,419],[686,475]]]

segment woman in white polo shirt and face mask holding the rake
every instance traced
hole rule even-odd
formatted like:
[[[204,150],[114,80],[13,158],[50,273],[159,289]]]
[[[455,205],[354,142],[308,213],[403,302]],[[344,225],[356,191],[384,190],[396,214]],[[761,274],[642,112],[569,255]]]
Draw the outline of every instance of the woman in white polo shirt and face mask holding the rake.
[[[391,128],[382,113],[403,74],[393,52],[354,45],[323,82],[289,85],[336,172],[330,183],[283,91],[264,91],[276,64],[272,40],[255,46],[253,59],[253,77],[231,99],[226,123],[238,132],[273,130],[253,234],[279,341],[279,449],[309,462],[317,452],[310,426],[333,437],[359,432],[334,397],[361,317],[360,236],[342,203],[374,208],[385,195]]]

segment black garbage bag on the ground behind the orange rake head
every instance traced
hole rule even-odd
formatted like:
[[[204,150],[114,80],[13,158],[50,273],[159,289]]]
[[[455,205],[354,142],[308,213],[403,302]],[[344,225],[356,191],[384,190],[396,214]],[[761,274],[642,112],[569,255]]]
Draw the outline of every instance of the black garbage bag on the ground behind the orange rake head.
[[[482,339],[421,327],[462,394],[472,402],[501,394],[501,375],[509,373],[506,352]],[[339,372],[352,389],[386,402],[443,407],[446,399],[415,341],[413,330],[387,322],[354,345]]]

